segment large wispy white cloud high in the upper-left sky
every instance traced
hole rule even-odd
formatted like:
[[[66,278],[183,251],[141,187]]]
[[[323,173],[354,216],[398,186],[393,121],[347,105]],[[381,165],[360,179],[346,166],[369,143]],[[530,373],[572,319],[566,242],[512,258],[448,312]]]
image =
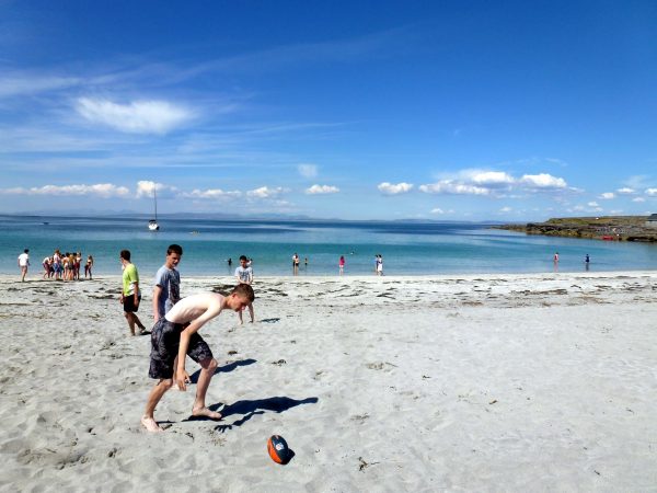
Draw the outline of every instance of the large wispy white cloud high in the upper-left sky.
[[[80,98],[77,111],[90,122],[132,134],[166,134],[194,117],[189,110],[166,101],[117,104],[107,100]]]

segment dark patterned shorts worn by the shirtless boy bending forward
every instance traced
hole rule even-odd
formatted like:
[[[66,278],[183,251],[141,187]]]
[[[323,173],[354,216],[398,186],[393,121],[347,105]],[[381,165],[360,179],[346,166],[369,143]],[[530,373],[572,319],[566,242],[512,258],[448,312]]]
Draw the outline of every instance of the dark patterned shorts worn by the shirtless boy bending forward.
[[[173,363],[181,345],[181,332],[185,326],[162,317],[151,332],[151,363],[148,371],[151,378],[172,378]],[[203,337],[195,332],[189,337],[187,356],[196,363],[212,358],[212,352]]]

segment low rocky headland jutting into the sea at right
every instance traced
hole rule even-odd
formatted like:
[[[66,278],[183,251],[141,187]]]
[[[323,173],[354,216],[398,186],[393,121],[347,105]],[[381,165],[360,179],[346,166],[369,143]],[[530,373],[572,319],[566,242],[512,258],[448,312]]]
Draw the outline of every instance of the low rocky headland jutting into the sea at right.
[[[647,216],[569,217],[552,218],[545,222],[502,225],[493,228],[548,237],[657,242],[657,228],[646,226],[647,219]]]

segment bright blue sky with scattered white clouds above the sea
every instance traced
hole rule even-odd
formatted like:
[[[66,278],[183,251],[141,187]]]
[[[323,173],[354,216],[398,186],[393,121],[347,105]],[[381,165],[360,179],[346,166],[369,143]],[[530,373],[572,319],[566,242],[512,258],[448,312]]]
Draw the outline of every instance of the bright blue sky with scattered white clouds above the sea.
[[[653,0],[0,0],[0,214],[652,214],[656,88]]]

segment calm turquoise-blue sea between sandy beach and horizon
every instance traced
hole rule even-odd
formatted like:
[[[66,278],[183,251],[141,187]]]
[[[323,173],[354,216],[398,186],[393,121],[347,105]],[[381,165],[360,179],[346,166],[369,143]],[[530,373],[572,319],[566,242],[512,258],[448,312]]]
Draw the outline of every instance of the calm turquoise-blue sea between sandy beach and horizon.
[[[206,218],[161,218],[159,223],[159,231],[149,231],[147,219],[134,217],[0,216],[0,273],[18,276],[18,255],[30,249],[30,276],[36,276],[43,259],[59,249],[82,252],[84,260],[93,255],[96,275],[120,274],[119,252],[127,249],[143,278],[154,276],[171,243],[183,248],[183,276],[233,275],[240,255],[253,260],[255,276],[336,276],[341,255],[345,276],[374,275],[377,254],[384,275],[657,268],[657,244],[527,236],[491,223]]]

